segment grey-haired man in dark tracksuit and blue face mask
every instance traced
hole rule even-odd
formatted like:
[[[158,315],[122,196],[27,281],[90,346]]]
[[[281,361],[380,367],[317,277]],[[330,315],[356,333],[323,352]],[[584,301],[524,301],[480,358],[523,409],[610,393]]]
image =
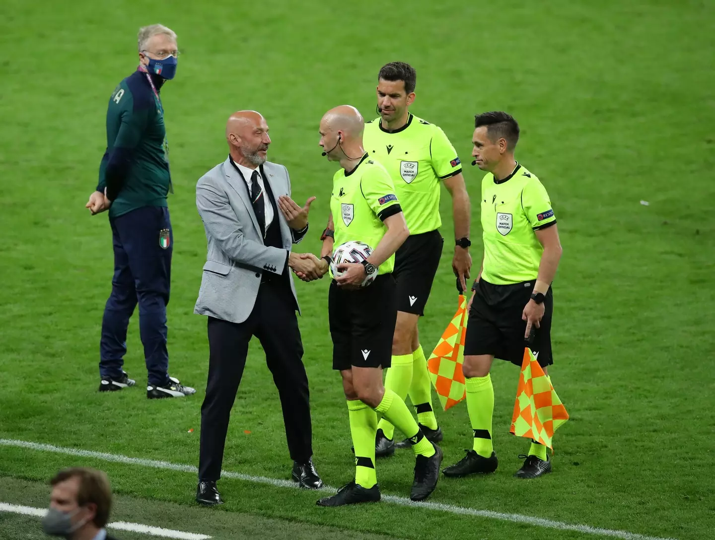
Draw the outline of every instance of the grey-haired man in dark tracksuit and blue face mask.
[[[129,317],[139,304],[139,331],[149,399],[184,397],[195,390],[169,376],[167,304],[172,264],[172,191],[159,92],[177,69],[177,36],[161,24],[139,30],[139,67],[109,99],[107,151],[99,184],[89,196],[92,215],[109,210],[114,246],[112,294],[102,319],[99,391],[134,386],[122,369]]]

